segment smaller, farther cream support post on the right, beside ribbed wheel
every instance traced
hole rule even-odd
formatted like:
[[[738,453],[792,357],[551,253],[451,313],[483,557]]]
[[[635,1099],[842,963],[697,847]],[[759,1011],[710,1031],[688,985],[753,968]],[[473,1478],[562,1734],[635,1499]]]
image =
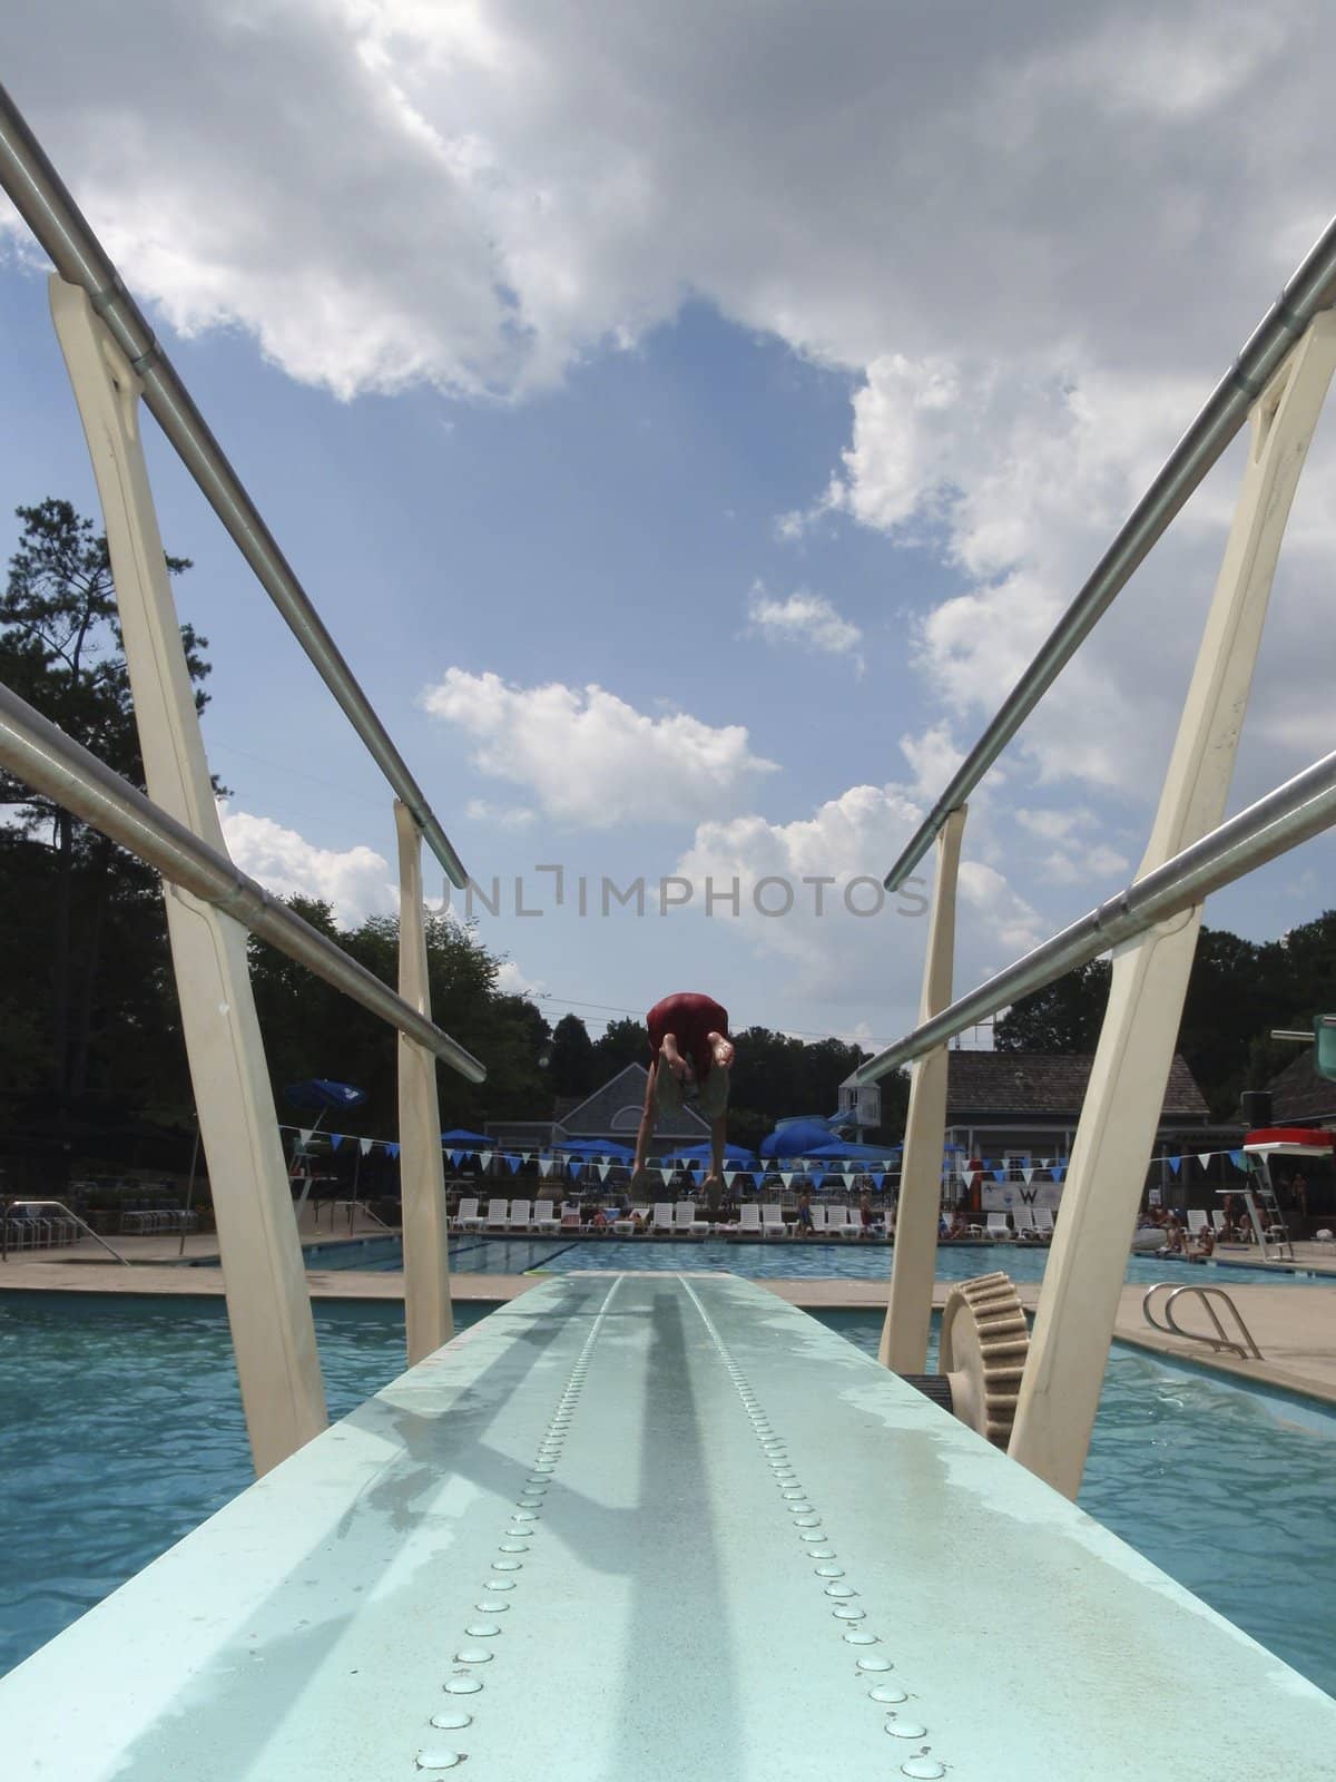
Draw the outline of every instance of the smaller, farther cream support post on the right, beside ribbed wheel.
[[[951,811],[937,830],[937,877],[932,887],[919,1021],[932,1019],[951,1001],[955,893],[964,830],[965,805]],[[921,1374],[928,1365],[932,1283],[937,1272],[937,1228],[942,1215],[948,1069],[949,1050],[937,1046],[914,1060],[908,1089],[896,1246],[891,1253],[891,1297],[876,1349],[878,1361],[896,1374]]]

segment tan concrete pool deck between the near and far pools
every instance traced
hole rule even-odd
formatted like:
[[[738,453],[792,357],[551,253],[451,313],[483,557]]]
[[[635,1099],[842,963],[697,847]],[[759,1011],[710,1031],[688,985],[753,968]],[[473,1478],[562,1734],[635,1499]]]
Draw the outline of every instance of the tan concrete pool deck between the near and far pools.
[[[383,1226],[360,1228],[353,1238],[346,1235],[331,1237],[326,1231],[305,1230],[306,1242],[353,1242],[365,1237],[390,1237]],[[112,1240],[116,1247],[134,1263],[125,1267],[107,1258],[93,1242],[71,1246],[55,1253],[43,1253],[50,1260],[25,1251],[0,1263],[0,1294],[48,1292],[48,1294],[148,1294],[167,1297],[217,1299],[223,1297],[221,1269],[183,1267],[178,1256],[180,1237],[121,1237]],[[778,1247],[778,1246],[775,1246]],[[1006,1269],[1006,1256],[1014,1249],[1010,1244],[990,1246],[989,1258],[996,1269]],[[217,1256],[217,1240],[212,1235],[191,1233],[185,1240],[185,1260],[203,1260]],[[1249,1260],[1249,1253],[1240,1249],[1240,1262],[1249,1267],[1259,1263]],[[1297,1244],[1295,1262],[1302,1269],[1316,1269],[1332,1274],[1327,1287],[1284,1287],[1283,1271],[1277,1269],[1277,1285],[1231,1285],[1227,1276],[1213,1276],[1211,1287],[1224,1287],[1234,1304],[1243,1313],[1258,1347],[1261,1361],[1245,1361],[1236,1356],[1215,1354],[1204,1344],[1167,1336],[1153,1329],[1142,1317],[1142,1299],[1145,1287],[1129,1285],[1122,1288],[1115,1336],[1119,1342],[1135,1344],[1158,1354],[1195,1361],[1213,1367],[1247,1383],[1281,1386],[1288,1392],[1306,1394],[1336,1404],[1336,1271],[1332,1271],[1331,1246]],[[691,1271],[682,1271],[689,1274]],[[468,1274],[458,1271],[451,1276],[451,1292],[460,1303],[508,1303],[518,1299],[550,1276],[543,1274]],[[306,1272],[312,1299],[403,1299],[403,1276],[397,1272],[371,1272],[358,1269],[310,1269]],[[889,1281],[880,1279],[768,1279],[759,1281],[768,1292],[777,1294],[791,1306],[805,1312],[884,1312]],[[951,1281],[937,1281],[933,1287],[933,1306],[946,1304]],[[1195,1285],[1192,1281],[1183,1285]],[[1206,1285],[1206,1283],[1202,1283]],[[1033,1313],[1039,1303],[1039,1281],[1019,1281],[1017,1294],[1021,1304]],[[1208,1328],[1201,1304],[1179,1308],[1181,1322],[1192,1329]]]

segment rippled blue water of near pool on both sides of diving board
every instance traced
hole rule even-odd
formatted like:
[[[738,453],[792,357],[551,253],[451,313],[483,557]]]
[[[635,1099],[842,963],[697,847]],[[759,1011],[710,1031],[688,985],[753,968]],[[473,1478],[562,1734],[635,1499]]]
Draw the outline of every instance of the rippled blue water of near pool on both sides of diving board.
[[[315,1324],[331,1415],[403,1370],[401,1306]],[[1081,1506],[1336,1693],[1334,1474],[1336,1415],[1115,1349]],[[0,1477],[4,1672],[249,1483],[223,1303],[0,1294]]]

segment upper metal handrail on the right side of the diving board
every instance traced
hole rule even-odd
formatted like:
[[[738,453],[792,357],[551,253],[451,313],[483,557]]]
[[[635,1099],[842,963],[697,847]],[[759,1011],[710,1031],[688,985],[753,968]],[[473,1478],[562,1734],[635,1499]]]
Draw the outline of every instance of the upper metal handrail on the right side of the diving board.
[[[1085,643],[1096,624],[1145,560],[1170,520],[1185,506],[1206,472],[1234,438],[1249,410],[1304,333],[1313,317],[1336,299],[1336,221],[1329,223],[1299,264],[1293,278],[1252,330],[1243,351],[1208,396],[1188,431],[1165,460],[1163,469],[1131,510],[1113,544],[1096,563],[1085,586],[1062,615],[1039,654],[1003,700],[983,736],[955,770],[949,786],[933,804],[885,875],[885,889],[898,891],[928,852],[933,836],[978,786],[1024,720]]]

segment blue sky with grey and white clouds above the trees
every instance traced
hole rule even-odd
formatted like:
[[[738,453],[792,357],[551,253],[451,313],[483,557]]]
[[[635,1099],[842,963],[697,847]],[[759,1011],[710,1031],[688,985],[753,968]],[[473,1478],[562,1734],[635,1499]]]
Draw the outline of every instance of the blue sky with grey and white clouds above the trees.
[[[96,9],[55,12],[103,29]],[[914,1014],[925,925],[891,907],[816,921],[802,879],[834,877],[835,898],[880,879],[1325,221],[1284,141],[1231,135],[1281,64],[1286,128],[1311,132],[1318,93],[1291,52],[1318,25],[1281,9],[1240,39],[1188,5],[1129,14],[1177,71],[1147,62],[1138,86],[1104,68],[1115,9],[1056,29],[1022,7],[1014,41],[980,39],[955,69],[983,119],[971,150],[933,110],[946,64],[905,68],[885,21],[832,25],[823,59],[773,7],[771,91],[741,20],[711,14],[732,86],[705,116],[709,45],[666,68],[623,30],[634,12],[607,14],[595,86],[540,11],[483,5],[465,29],[390,0],[374,27],[260,7],[264,57],[226,9],[164,7],[164,80],[132,100],[78,68],[62,84],[39,39],[7,78],[472,875],[506,882],[481,932],[509,980],[595,1028],[697,987],[739,1025],[887,1041]],[[878,55],[900,89],[871,125],[857,69]],[[297,137],[264,100],[315,61],[328,116]],[[228,141],[230,82],[251,84],[257,143]],[[933,151],[917,184],[916,119]],[[354,176],[321,153],[349,134]],[[93,511],[18,225],[0,321],[4,508],[62,494]],[[349,918],[392,907],[374,766],[148,435],[164,536],[196,563],[180,601],[210,638],[233,852]],[[1131,877],[1238,462],[976,800],[962,989]],[[1334,469],[1324,435],[1234,807],[1329,747],[1311,638]],[[604,875],[677,875],[693,907],[581,920],[540,862],[584,873],[595,909]],[[1313,845],[1208,920],[1279,934],[1324,907],[1329,866]],[[542,916],[513,912],[517,875]],[[745,903],[787,879],[794,912],[704,920],[707,875],[737,875]]]

